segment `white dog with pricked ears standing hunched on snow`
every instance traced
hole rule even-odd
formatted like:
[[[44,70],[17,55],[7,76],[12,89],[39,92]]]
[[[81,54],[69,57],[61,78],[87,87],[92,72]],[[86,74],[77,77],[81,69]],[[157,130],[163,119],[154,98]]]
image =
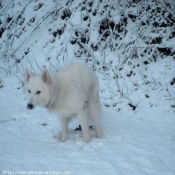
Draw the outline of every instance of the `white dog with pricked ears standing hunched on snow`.
[[[49,74],[45,69],[41,75],[35,75],[26,69],[25,92],[29,96],[28,109],[37,105],[57,113],[62,132],[58,138],[66,141],[68,124],[73,116],[78,116],[85,142],[91,140],[87,116],[93,120],[99,138],[101,113],[99,84],[95,73],[84,64],[70,64],[60,72]]]

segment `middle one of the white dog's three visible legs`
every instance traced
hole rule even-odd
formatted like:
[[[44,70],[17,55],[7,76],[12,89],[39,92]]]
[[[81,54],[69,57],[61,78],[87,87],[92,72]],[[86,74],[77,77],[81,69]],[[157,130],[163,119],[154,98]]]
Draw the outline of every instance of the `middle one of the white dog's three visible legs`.
[[[78,119],[81,124],[81,129],[83,131],[83,139],[86,143],[90,142],[90,133],[89,133],[89,127],[88,127],[88,122],[87,122],[87,112],[86,110],[80,110],[78,112]]]

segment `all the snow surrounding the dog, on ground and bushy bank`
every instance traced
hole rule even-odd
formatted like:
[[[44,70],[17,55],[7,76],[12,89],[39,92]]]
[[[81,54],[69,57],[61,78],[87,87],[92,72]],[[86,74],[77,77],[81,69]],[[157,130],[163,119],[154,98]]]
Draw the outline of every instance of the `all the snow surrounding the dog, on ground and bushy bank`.
[[[161,27],[170,12],[155,27],[163,14],[154,1],[89,2],[2,1],[0,27],[9,30],[0,30],[0,174],[175,174],[175,61],[157,49],[175,51],[174,25]],[[39,3],[43,6],[34,10]],[[72,14],[62,20],[67,9]],[[104,19],[118,27],[107,28],[109,36],[99,34]],[[82,40],[80,33],[83,45],[71,44]],[[161,42],[154,43],[156,38]],[[85,143],[82,132],[74,131],[79,125],[74,119],[69,139],[60,142],[57,115],[26,108],[24,68],[53,72],[72,62],[86,62],[97,74],[103,139],[90,130],[92,140]]]

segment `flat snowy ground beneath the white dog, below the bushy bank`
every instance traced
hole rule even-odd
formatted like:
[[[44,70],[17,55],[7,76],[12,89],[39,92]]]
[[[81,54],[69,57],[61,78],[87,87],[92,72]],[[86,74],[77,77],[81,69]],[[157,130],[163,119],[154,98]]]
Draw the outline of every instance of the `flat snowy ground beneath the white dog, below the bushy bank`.
[[[104,139],[91,131],[92,141],[84,143],[82,133],[73,131],[77,126],[73,121],[69,140],[62,143],[53,138],[60,131],[57,116],[42,108],[28,111],[21,89],[14,85],[17,81],[13,77],[4,80],[0,174],[175,174],[175,119],[170,108],[147,108],[134,115],[103,107]]]

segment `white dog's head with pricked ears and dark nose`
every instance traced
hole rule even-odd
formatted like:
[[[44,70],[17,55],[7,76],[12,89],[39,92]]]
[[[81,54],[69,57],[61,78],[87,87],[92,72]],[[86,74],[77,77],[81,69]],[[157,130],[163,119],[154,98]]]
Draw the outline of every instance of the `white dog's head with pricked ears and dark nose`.
[[[45,69],[41,75],[35,75],[26,69],[25,92],[28,96],[28,109],[34,109],[36,106],[47,107],[51,97],[49,84],[51,82],[48,71]]]

